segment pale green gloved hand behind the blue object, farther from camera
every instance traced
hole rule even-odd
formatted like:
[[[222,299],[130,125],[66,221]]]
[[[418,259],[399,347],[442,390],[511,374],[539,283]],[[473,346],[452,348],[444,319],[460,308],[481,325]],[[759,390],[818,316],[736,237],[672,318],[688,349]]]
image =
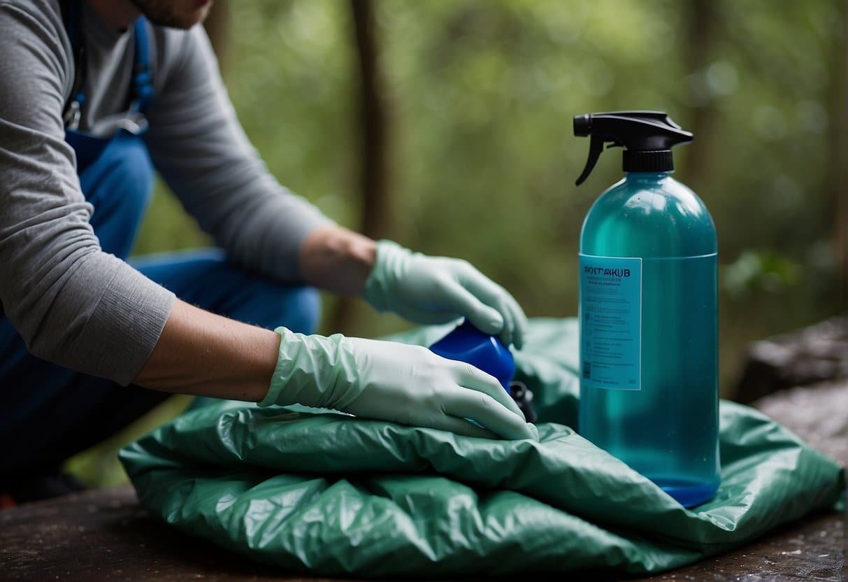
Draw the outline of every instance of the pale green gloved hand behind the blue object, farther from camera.
[[[365,299],[378,311],[411,322],[471,320],[483,333],[521,349],[527,317],[505,288],[466,260],[413,253],[397,243],[377,243],[377,260],[365,281]]]

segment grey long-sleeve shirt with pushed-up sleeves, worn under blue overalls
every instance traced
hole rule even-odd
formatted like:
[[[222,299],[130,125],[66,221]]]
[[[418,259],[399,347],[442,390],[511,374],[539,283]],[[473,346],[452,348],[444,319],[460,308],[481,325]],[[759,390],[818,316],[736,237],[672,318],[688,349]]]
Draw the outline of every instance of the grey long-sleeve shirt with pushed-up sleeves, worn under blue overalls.
[[[80,129],[107,137],[126,110],[132,31],[83,11],[87,104]],[[328,221],[265,168],[226,95],[200,26],[150,26],[153,164],[204,231],[244,266],[298,279],[298,247]],[[173,294],[103,252],[64,142],[74,57],[58,0],[0,0],[0,316],[31,353],[130,383],[159,340]],[[120,195],[120,193],[118,193]]]

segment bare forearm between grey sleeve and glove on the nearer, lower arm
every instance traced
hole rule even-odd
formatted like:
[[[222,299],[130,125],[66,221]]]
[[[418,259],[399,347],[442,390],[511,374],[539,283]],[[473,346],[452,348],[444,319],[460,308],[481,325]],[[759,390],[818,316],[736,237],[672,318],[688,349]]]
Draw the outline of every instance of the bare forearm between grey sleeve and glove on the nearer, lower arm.
[[[280,336],[177,300],[135,383],[146,388],[257,402],[268,392]]]

